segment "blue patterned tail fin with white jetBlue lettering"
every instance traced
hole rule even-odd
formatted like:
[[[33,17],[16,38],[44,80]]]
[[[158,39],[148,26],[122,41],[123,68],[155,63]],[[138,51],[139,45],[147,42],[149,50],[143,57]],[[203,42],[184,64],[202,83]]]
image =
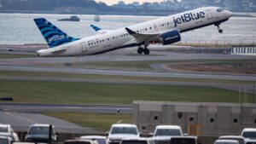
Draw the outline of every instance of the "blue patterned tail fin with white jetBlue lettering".
[[[49,48],[79,40],[78,38],[69,37],[65,32],[62,32],[58,27],[44,18],[34,19],[34,21],[44,36],[45,41],[48,43]]]

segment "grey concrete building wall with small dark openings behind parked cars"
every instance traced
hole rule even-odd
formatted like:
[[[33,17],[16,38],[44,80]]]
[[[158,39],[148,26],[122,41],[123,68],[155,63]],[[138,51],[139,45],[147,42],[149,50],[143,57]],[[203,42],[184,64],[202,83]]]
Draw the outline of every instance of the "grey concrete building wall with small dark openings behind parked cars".
[[[143,133],[154,132],[159,124],[175,124],[190,135],[240,135],[244,127],[256,126],[256,105],[134,101],[132,119]]]

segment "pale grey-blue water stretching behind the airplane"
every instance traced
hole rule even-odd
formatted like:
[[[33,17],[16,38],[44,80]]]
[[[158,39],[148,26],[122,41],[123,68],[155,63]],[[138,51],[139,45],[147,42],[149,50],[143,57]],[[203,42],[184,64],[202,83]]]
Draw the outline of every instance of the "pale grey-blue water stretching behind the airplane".
[[[94,15],[78,15],[79,22],[57,21],[69,18],[70,14],[0,14],[0,44],[45,43],[44,37],[34,24],[34,18],[44,17],[72,37],[89,37],[96,32],[90,24],[105,30],[131,26],[158,16],[101,15],[100,22],[94,22]],[[220,26],[207,26],[182,33],[183,43],[256,43],[256,18],[234,17]]]

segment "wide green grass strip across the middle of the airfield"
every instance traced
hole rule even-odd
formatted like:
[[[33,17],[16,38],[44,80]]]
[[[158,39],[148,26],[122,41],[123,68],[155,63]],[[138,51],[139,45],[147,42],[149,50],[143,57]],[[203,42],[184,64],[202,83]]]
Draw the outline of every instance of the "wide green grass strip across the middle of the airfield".
[[[131,104],[144,101],[238,102],[238,92],[195,86],[87,84],[1,80],[0,97],[13,97],[14,102]],[[253,101],[253,95],[249,95]]]

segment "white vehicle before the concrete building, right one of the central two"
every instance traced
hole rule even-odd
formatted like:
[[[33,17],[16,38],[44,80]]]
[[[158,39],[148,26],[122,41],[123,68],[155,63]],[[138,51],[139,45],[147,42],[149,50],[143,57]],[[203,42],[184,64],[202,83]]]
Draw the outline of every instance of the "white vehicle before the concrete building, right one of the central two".
[[[183,132],[178,125],[157,125],[154,134],[151,135],[156,144],[166,144],[170,142],[172,136],[183,136]]]

